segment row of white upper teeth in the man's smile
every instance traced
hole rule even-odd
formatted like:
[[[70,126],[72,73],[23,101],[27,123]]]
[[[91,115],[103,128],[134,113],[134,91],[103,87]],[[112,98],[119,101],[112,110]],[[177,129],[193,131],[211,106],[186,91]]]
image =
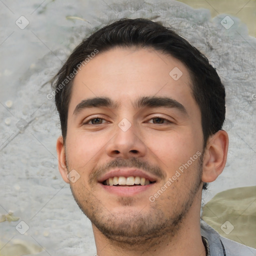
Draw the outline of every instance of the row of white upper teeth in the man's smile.
[[[144,177],[138,177],[138,176],[129,176],[129,177],[124,177],[124,176],[114,176],[110,177],[105,180],[105,183],[107,185],[148,185],[150,182],[148,179]]]

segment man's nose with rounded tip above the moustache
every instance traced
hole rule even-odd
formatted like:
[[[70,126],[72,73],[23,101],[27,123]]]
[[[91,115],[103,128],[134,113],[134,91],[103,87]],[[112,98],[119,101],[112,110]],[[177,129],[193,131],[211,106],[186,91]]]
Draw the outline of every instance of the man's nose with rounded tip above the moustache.
[[[146,145],[139,135],[138,129],[131,125],[127,130],[117,126],[115,135],[106,145],[106,153],[110,157],[143,157]]]

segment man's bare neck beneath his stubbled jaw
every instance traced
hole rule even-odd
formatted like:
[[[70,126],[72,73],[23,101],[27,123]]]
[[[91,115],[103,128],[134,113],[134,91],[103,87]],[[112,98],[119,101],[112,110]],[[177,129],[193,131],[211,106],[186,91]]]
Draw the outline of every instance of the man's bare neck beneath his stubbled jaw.
[[[200,234],[200,203],[195,199],[180,221],[175,234],[163,233],[161,236],[144,240],[140,244],[117,242],[103,235],[93,224],[98,256],[205,256],[205,248]]]

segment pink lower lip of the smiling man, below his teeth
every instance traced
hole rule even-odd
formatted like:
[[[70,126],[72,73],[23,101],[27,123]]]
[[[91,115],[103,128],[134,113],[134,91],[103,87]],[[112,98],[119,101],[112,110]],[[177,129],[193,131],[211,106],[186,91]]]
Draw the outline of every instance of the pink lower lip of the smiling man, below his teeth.
[[[119,196],[132,196],[141,193],[149,189],[154,183],[148,185],[138,185],[138,186],[109,186],[99,183],[107,192],[114,193]]]

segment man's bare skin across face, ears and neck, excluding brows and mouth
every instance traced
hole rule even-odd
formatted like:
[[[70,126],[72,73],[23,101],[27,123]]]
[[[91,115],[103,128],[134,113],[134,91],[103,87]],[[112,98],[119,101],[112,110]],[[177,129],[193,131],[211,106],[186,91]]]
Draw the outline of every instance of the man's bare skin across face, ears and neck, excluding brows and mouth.
[[[182,71],[177,80],[169,75],[174,67]],[[95,96],[109,97],[115,105],[73,113],[79,102]],[[186,113],[177,107],[134,106],[146,96],[172,98]],[[96,117],[103,119],[89,122]],[[126,131],[118,126],[123,118],[131,124]],[[222,172],[227,147],[227,133],[220,130],[203,148],[201,115],[187,68],[170,55],[134,47],[99,52],[77,73],[65,144],[62,136],[56,144],[59,171],[92,222],[100,256],[205,255],[199,223],[202,182]],[[149,196],[196,152],[201,157],[151,202]],[[155,182],[132,196],[106,191],[98,177],[116,166],[143,166]],[[72,169],[80,175],[75,182],[67,178]]]

